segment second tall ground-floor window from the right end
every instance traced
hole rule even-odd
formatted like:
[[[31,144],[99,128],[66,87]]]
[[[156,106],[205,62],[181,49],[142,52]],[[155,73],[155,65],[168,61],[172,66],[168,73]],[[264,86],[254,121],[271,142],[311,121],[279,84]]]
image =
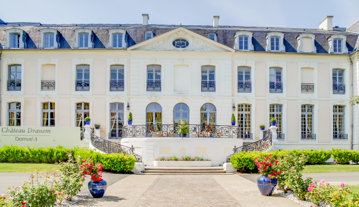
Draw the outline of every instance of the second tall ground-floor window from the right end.
[[[302,139],[315,139],[313,133],[313,105],[302,105]]]

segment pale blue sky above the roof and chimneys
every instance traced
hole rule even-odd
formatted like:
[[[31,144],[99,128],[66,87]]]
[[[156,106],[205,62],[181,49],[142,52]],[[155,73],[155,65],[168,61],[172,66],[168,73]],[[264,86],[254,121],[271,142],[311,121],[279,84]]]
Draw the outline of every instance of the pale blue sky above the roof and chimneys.
[[[149,14],[149,24],[176,25],[211,25],[214,15],[220,16],[220,25],[254,27],[317,28],[327,15],[339,27],[359,20],[359,0],[1,1],[5,22],[140,24],[142,13]]]

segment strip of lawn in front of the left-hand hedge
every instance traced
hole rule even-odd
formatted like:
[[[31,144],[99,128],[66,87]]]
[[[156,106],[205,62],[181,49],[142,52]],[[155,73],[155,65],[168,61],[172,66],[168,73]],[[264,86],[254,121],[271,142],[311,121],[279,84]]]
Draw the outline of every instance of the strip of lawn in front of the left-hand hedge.
[[[34,173],[36,169],[39,169],[39,173],[52,173],[57,166],[42,163],[0,163],[0,173]]]

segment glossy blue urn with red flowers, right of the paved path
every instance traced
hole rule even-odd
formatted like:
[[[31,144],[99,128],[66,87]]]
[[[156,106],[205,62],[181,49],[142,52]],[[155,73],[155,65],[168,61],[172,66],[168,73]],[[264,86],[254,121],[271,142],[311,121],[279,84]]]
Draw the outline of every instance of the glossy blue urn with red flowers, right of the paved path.
[[[277,177],[280,171],[277,169],[278,161],[270,154],[268,157],[261,156],[254,159],[258,173],[262,175],[257,178],[257,186],[263,196],[271,196],[277,185]]]

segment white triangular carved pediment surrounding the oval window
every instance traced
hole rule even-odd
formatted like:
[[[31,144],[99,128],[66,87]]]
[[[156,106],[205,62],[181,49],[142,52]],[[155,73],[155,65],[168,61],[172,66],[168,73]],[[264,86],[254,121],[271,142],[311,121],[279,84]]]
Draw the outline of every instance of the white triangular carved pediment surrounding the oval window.
[[[172,43],[176,39],[187,40],[188,46],[185,48],[175,47]],[[230,47],[202,35],[198,35],[183,27],[131,46],[128,50],[234,52]]]

